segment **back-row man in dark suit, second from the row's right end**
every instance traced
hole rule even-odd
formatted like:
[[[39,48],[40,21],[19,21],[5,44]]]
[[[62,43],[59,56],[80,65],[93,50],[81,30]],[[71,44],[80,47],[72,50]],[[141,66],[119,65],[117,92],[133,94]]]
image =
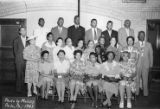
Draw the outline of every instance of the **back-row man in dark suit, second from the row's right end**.
[[[108,21],[107,22],[107,29],[102,32],[102,37],[105,38],[105,47],[108,47],[110,45],[110,39],[111,37],[115,37],[118,42],[118,32],[113,30],[113,22]]]

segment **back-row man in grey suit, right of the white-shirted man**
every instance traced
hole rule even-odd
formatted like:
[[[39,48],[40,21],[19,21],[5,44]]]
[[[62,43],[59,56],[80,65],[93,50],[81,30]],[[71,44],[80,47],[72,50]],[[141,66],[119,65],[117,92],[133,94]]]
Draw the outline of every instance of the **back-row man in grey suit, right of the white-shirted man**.
[[[68,31],[67,28],[63,27],[63,24],[64,24],[63,17],[59,17],[57,21],[57,26],[52,28],[51,30],[54,41],[56,41],[58,37],[61,37],[64,40],[66,39]]]

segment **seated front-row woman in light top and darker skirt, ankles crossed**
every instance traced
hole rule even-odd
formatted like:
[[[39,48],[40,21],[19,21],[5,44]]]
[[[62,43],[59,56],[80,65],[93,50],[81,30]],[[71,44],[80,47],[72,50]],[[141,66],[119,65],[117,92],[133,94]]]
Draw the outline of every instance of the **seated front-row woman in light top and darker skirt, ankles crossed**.
[[[103,102],[103,106],[108,105],[111,108],[111,97],[113,94],[118,94],[118,82],[119,78],[119,64],[114,61],[115,54],[113,51],[108,51],[106,54],[107,61],[101,66],[102,83],[100,89],[106,93],[107,99]]]

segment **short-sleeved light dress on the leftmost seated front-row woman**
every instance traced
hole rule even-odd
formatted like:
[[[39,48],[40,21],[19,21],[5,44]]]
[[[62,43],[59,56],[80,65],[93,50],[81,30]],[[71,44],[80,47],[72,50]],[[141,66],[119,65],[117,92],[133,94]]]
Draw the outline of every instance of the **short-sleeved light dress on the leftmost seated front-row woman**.
[[[53,63],[49,63],[49,62],[39,63],[39,73],[40,73],[39,84],[38,84],[39,87],[41,87],[45,82],[49,82],[51,86],[54,86],[53,70],[54,70]],[[41,73],[48,76],[44,76],[43,74],[41,75]]]

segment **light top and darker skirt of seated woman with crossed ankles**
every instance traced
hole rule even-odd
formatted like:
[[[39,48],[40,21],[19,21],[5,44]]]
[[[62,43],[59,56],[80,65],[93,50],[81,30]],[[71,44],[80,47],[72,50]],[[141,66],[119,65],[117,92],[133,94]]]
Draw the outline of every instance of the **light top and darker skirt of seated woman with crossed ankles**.
[[[112,63],[105,62],[101,66],[101,73],[102,77],[116,77],[120,74],[120,67],[119,64],[116,61],[113,61]],[[118,94],[118,83],[116,82],[108,82],[105,80],[102,80],[100,85],[101,91],[108,91],[115,95]]]

